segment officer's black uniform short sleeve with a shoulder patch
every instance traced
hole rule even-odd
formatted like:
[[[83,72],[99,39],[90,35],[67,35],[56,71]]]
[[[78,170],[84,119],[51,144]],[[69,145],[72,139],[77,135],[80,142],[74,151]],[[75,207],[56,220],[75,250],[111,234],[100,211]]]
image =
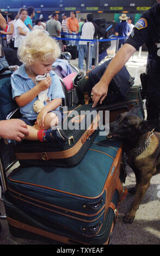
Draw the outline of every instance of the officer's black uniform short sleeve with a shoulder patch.
[[[145,44],[149,39],[149,31],[147,28],[147,21],[146,21],[146,24],[144,25],[144,27],[140,27],[140,22],[139,23],[138,22],[134,26],[130,37],[126,40],[126,44],[132,45],[134,48],[136,48],[137,51],[139,50],[139,47],[142,46],[143,44]]]

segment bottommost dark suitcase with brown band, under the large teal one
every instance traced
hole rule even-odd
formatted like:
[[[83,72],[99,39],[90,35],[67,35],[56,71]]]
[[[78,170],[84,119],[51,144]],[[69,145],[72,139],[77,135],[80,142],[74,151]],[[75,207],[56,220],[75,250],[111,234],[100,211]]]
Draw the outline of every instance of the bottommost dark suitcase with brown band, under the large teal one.
[[[44,218],[28,211],[22,211],[18,206],[11,203],[8,192],[3,196],[5,212],[11,235],[21,239],[32,239],[53,243],[54,245],[108,245],[110,244],[112,230],[118,216],[120,206],[119,193],[116,190],[107,211],[106,219],[99,233],[92,237],[79,236],[68,229],[61,228],[55,223],[46,222]]]

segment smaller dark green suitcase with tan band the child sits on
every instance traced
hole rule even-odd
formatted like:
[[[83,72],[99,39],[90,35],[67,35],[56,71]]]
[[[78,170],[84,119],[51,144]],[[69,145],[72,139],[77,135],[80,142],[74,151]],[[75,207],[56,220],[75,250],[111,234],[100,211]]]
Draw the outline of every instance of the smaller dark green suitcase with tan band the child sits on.
[[[23,166],[72,166],[80,162],[99,132],[99,113],[92,105],[63,108],[64,121],[57,128],[64,143],[23,141],[13,145]]]

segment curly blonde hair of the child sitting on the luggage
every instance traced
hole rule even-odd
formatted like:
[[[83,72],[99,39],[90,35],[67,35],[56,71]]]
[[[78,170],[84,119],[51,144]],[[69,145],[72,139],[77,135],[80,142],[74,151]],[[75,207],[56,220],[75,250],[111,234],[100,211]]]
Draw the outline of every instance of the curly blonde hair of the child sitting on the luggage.
[[[60,53],[56,40],[39,29],[25,36],[17,52],[20,61],[26,66],[32,65],[36,60],[46,61],[51,56],[54,62]]]

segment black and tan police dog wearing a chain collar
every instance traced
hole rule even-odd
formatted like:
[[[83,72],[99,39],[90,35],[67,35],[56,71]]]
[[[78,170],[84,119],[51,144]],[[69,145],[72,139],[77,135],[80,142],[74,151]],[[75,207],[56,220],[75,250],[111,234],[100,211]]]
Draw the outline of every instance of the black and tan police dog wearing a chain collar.
[[[120,138],[127,163],[136,175],[136,194],[124,222],[132,223],[153,175],[160,173],[160,133],[153,132],[158,120],[145,121],[137,115],[139,106],[119,114],[109,125],[109,135]]]

